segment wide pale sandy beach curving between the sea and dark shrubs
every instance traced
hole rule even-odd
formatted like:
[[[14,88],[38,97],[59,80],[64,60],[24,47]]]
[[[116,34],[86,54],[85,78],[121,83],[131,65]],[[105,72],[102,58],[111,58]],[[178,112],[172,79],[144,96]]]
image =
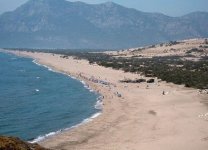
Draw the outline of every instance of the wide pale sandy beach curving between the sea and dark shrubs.
[[[139,75],[50,53],[15,53],[84,80],[104,97],[99,117],[40,142],[44,147],[56,150],[208,148],[208,96],[197,89],[166,82],[121,83],[120,80],[139,78]]]

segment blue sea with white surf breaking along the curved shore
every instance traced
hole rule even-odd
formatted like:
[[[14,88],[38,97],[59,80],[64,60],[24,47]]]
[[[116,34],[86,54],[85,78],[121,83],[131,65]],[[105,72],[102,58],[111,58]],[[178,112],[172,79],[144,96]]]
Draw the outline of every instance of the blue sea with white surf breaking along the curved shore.
[[[84,81],[0,52],[0,135],[39,142],[100,115],[99,101]]]

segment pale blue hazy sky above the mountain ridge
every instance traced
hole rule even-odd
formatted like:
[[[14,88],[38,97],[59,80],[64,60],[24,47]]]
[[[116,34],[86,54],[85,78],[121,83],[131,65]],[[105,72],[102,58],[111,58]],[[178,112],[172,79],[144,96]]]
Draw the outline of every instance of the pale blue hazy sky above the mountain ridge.
[[[28,0],[0,0],[0,14],[14,10]],[[75,0],[71,0],[75,1]],[[102,3],[109,0],[79,0],[86,3]],[[110,0],[129,8],[146,12],[161,12],[169,16],[181,16],[193,11],[208,11],[208,0]]]

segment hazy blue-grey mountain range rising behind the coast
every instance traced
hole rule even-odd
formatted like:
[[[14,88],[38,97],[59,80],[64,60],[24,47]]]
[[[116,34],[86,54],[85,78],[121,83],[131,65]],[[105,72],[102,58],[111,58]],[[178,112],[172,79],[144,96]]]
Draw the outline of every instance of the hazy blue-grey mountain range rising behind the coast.
[[[107,2],[30,0],[0,16],[0,47],[130,48],[208,37],[208,13],[145,13]]]

